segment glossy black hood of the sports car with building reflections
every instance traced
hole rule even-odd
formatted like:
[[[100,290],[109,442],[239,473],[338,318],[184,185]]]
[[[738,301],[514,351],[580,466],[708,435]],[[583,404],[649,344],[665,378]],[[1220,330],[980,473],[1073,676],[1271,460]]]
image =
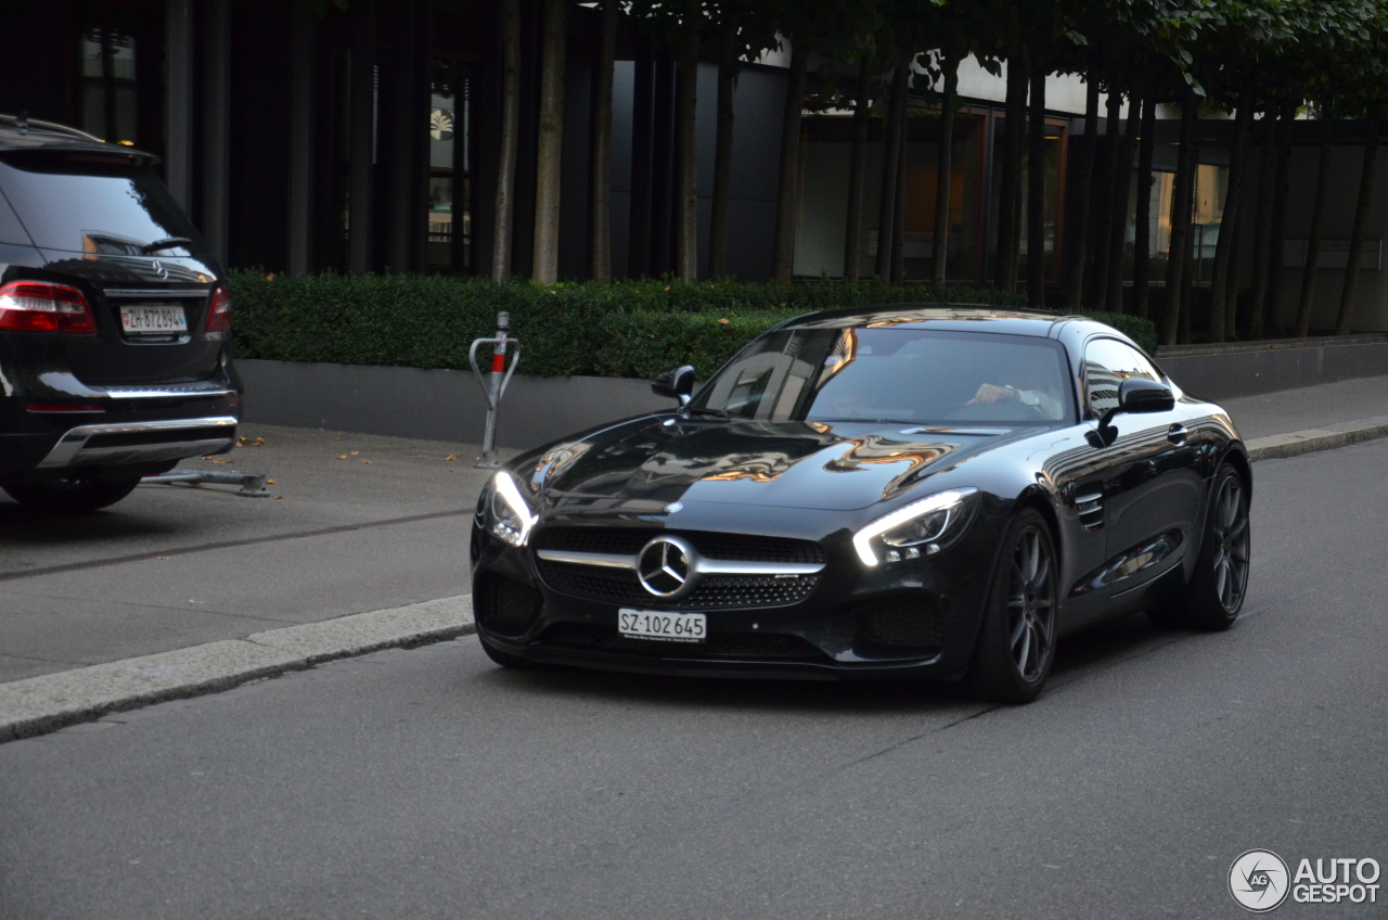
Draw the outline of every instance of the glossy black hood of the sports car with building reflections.
[[[670,502],[856,510],[1010,439],[1008,428],[650,418],[551,447],[523,474],[555,511]]]

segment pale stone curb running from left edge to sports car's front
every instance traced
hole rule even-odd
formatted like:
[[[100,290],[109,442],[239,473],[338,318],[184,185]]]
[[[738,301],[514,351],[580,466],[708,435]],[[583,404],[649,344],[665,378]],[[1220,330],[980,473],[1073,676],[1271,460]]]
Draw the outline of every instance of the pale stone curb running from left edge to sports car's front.
[[[0,684],[0,744],[473,628],[472,595],[458,595]]]

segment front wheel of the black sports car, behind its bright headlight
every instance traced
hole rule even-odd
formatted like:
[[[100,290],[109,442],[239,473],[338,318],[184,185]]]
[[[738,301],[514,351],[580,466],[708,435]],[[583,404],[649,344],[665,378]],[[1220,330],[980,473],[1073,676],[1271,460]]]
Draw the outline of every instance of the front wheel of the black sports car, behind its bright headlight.
[[[1045,518],[1024,509],[1002,538],[984,605],[967,678],[976,696],[1030,703],[1041,693],[1055,662],[1056,563]]]

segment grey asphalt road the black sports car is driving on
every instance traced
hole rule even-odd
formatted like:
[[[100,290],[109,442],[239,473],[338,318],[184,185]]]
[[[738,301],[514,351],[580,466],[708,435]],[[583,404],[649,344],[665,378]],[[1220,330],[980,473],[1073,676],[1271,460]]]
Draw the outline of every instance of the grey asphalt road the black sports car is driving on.
[[[1244,851],[1388,866],[1388,441],[1255,474],[1235,627],[1076,636],[1026,707],[465,638],[0,745],[0,916],[1237,917]]]

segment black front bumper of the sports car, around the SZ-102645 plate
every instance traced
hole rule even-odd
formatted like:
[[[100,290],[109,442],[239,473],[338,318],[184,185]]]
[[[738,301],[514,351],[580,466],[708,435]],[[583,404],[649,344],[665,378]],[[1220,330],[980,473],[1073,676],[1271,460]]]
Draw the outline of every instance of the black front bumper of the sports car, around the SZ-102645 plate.
[[[508,655],[647,674],[866,680],[955,678],[967,670],[998,534],[980,516],[941,556],[872,568],[858,561],[845,531],[820,535],[826,564],[808,596],[718,607],[577,596],[572,585],[559,591],[541,577],[532,548],[512,548],[477,523],[472,539],[477,632]],[[704,613],[708,639],[622,636],[618,610],[627,607]]]

